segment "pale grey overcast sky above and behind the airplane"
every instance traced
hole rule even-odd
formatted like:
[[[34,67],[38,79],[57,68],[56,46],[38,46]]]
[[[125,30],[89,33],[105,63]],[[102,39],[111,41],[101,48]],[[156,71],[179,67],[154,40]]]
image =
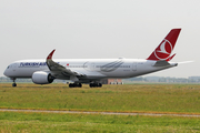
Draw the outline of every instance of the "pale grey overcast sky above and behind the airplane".
[[[181,28],[172,61],[193,63],[148,75],[200,75],[199,0],[1,0],[0,76],[13,61],[147,59]]]

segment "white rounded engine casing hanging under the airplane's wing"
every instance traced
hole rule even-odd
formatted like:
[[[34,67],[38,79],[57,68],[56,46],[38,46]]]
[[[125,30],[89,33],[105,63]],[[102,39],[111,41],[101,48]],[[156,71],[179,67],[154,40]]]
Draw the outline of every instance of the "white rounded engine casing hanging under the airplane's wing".
[[[49,84],[52,83],[54,78],[44,71],[38,71],[32,74],[32,82],[36,84]]]

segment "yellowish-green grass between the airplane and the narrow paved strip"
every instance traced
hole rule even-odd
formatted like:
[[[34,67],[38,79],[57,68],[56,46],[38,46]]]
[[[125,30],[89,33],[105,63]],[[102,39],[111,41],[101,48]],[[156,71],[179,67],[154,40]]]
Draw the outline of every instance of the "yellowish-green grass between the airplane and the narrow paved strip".
[[[69,89],[66,84],[0,84],[0,108],[200,113],[199,84],[132,84]]]

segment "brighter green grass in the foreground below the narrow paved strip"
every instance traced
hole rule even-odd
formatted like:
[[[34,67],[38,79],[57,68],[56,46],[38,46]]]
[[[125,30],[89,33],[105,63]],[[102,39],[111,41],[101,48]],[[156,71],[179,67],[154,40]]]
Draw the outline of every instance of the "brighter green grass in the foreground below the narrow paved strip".
[[[1,133],[190,133],[200,132],[199,123],[197,117],[0,112]]]

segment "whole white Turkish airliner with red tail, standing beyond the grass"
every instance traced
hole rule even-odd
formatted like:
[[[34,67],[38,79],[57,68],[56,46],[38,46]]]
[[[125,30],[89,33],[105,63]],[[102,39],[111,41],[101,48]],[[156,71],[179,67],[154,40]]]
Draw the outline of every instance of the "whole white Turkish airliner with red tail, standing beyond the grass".
[[[147,59],[54,59],[52,50],[43,60],[21,60],[11,63],[4,75],[13,80],[29,78],[36,84],[49,84],[54,79],[71,80],[69,88],[101,88],[102,79],[128,79],[177,66],[170,62],[181,29],[172,29]]]

